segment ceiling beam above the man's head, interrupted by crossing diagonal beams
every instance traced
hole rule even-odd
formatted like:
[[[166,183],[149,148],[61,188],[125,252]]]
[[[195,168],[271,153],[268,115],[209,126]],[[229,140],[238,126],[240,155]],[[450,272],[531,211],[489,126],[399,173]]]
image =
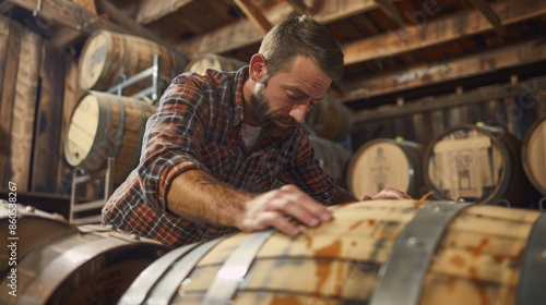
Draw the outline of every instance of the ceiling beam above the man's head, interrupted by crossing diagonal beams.
[[[324,1],[320,11],[311,13],[318,22],[328,24],[377,8],[373,0],[332,0]],[[272,10],[265,11],[264,14],[268,15],[268,19],[274,25],[292,12],[292,7],[283,2],[280,5],[275,5]],[[177,49],[187,54],[206,52],[224,53],[260,42],[262,38],[263,34],[250,21],[241,20],[205,35],[185,39],[177,46]]]

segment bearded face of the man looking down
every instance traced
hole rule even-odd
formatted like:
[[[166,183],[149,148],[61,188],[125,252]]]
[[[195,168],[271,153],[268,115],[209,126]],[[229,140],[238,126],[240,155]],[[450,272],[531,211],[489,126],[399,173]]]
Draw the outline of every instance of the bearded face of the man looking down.
[[[254,115],[274,135],[305,122],[307,112],[324,96],[332,78],[307,58],[294,60],[289,71],[266,75],[250,97]]]

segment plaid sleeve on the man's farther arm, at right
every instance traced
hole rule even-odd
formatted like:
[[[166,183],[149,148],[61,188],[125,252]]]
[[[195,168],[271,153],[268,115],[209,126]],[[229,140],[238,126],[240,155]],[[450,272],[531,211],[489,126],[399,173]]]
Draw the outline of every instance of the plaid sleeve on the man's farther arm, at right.
[[[301,129],[297,135],[297,141],[294,143],[296,143],[294,157],[278,178],[282,182],[296,184],[324,205],[356,202],[346,190],[339,186],[322,170],[319,161],[314,158],[314,151],[304,129]]]

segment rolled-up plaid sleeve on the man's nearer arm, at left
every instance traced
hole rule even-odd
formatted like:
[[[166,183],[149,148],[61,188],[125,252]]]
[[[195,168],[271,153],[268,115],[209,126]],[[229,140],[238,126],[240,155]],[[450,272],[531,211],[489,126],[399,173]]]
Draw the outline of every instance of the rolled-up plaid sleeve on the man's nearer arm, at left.
[[[179,174],[190,169],[206,171],[199,162],[211,111],[203,86],[197,76],[179,75],[147,121],[139,176],[146,202],[156,208],[166,210],[167,193]]]

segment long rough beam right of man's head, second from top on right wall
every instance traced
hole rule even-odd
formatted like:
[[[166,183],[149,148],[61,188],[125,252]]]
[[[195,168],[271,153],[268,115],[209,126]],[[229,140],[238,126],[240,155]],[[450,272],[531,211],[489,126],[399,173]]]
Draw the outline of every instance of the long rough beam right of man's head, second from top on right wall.
[[[501,69],[517,68],[546,60],[546,44],[532,40],[524,44],[482,52],[434,65],[422,64],[371,78],[346,82],[349,90],[341,101],[355,101],[401,90],[485,75]]]

